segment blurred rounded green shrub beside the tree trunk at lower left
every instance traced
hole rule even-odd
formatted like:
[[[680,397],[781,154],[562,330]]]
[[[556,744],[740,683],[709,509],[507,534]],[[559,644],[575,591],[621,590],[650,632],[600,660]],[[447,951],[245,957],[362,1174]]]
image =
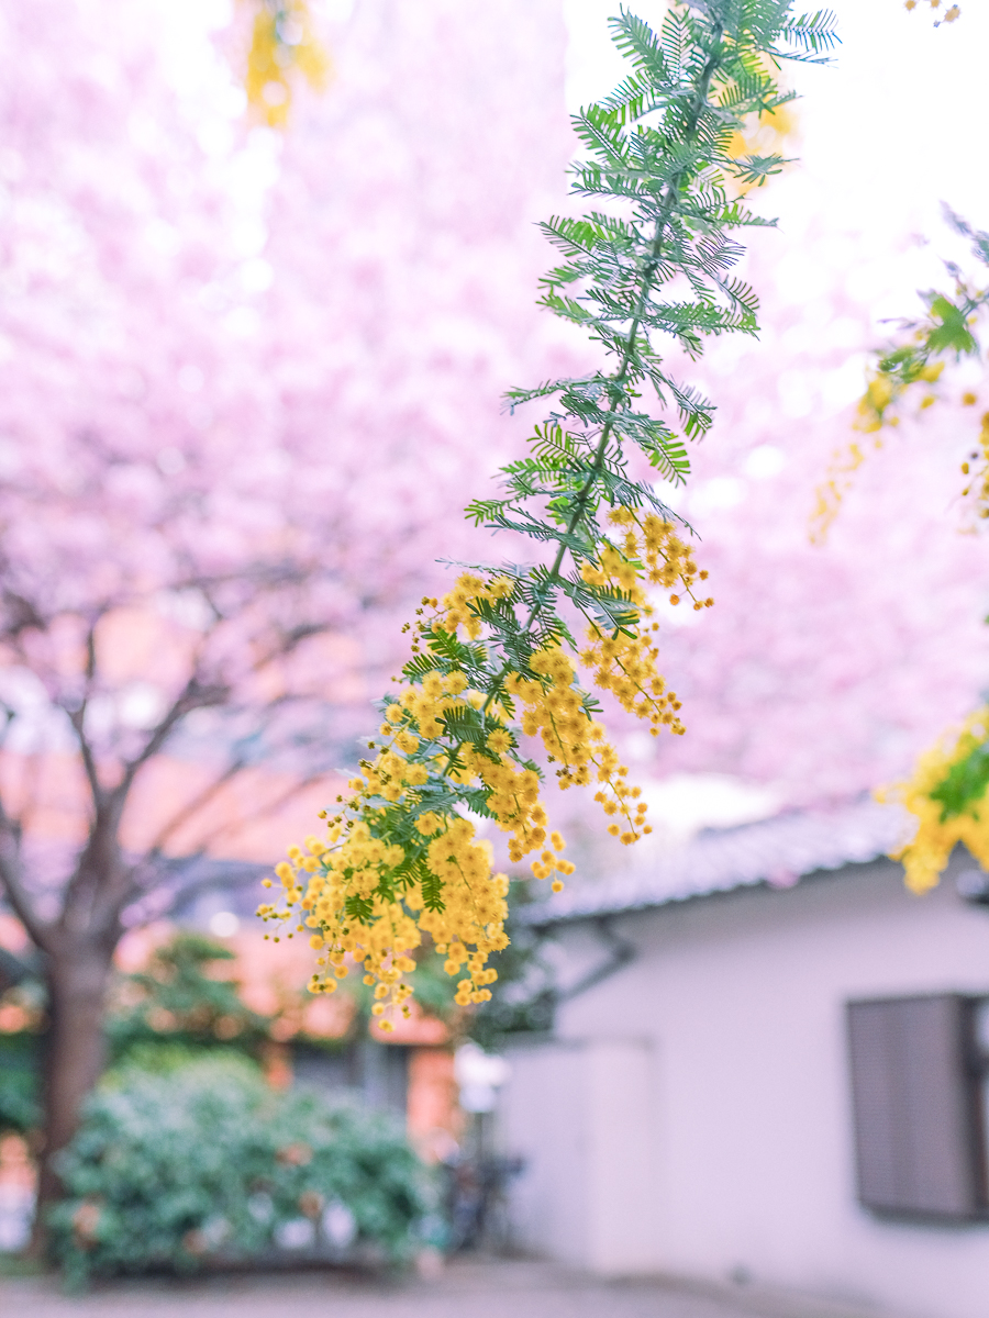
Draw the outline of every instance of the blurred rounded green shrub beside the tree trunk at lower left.
[[[393,1119],[277,1093],[244,1057],[171,1061],[111,1072],[62,1155],[70,1286],[280,1252],[401,1263],[426,1243],[430,1177]]]

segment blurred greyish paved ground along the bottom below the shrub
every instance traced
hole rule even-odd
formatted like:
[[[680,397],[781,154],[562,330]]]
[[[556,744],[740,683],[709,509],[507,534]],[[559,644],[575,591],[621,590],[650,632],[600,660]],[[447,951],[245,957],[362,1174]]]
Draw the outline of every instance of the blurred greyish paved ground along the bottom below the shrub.
[[[4,1318],[852,1318],[845,1309],[599,1281],[541,1263],[458,1260],[440,1276],[382,1282],[342,1273],[103,1285],[80,1298],[47,1277],[0,1277]],[[878,1318],[878,1315],[877,1315]]]

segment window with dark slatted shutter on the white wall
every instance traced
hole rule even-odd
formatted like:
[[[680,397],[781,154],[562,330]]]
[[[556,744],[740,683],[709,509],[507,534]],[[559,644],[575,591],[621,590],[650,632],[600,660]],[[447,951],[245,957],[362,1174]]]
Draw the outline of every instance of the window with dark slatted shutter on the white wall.
[[[848,1004],[858,1199],[885,1215],[989,1217],[986,1000],[963,994]]]

